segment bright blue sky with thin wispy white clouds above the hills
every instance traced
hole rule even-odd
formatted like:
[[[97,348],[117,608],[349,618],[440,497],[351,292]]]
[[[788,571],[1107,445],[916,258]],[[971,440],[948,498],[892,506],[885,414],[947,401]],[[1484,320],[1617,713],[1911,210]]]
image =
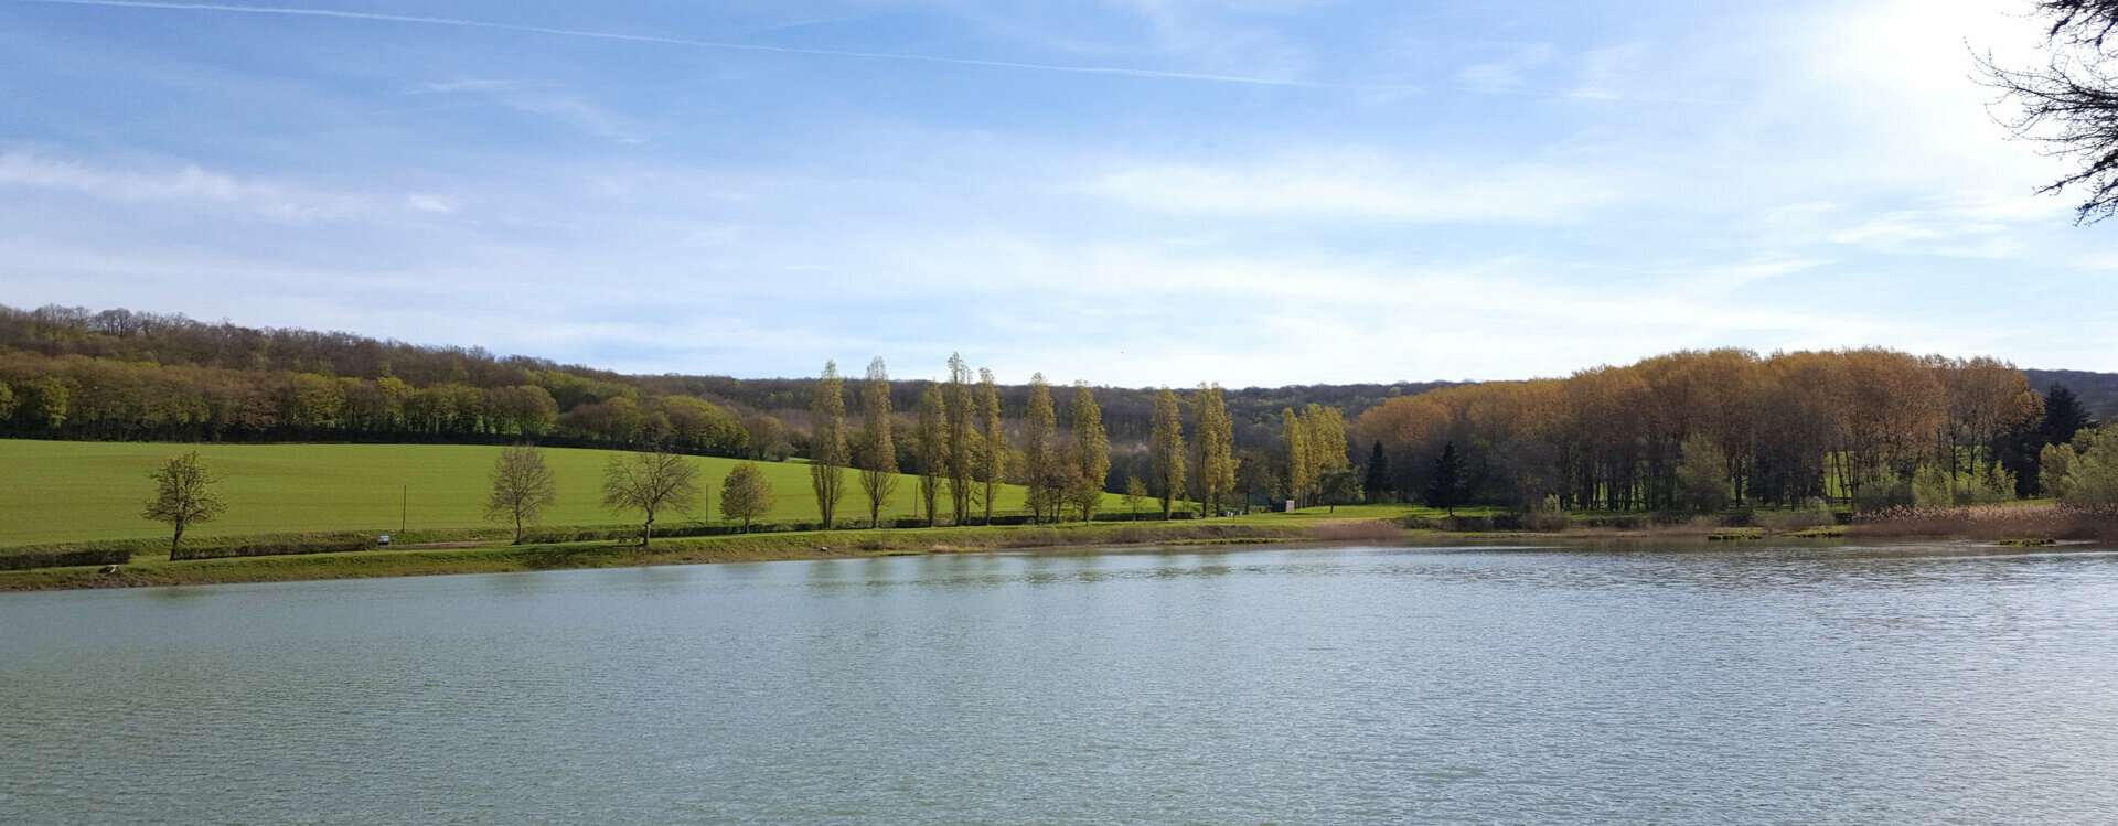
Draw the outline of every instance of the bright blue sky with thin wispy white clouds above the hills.
[[[2118,371],[2118,222],[1974,80],[2029,6],[0,0],[0,303],[735,377]]]

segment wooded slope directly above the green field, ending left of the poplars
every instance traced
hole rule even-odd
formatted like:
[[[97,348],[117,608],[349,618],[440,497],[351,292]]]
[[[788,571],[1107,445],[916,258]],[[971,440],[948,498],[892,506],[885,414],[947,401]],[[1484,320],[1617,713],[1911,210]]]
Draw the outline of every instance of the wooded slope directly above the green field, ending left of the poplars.
[[[182,316],[0,307],[0,434],[93,441],[519,441],[782,460],[786,426],[483,349]]]

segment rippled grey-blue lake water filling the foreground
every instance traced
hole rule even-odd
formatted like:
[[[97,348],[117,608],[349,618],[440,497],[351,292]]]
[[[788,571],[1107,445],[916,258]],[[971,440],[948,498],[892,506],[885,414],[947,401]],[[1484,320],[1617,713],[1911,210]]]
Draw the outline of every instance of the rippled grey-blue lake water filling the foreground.
[[[2118,555],[1269,549],[0,595],[0,822],[2090,824]]]

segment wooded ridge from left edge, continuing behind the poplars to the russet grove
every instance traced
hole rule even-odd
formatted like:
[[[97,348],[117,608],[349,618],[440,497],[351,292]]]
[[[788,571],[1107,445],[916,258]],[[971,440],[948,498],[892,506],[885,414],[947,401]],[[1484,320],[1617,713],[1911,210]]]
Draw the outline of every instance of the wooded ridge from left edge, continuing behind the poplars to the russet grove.
[[[0,381],[15,398],[0,434],[169,441],[510,441],[648,447],[777,460],[809,453],[818,379],[621,375],[483,347],[432,347],[352,333],[250,328],[182,313],[0,305]],[[1281,409],[1351,413],[1447,383],[1226,390],[1233,443],[1262,455]],[[885,385],[913,411],[917,381]],[[542,390],[542,396],[536,394]],[[864,392],[854,379],[851,392]],[[1095,388],[1116,479],[1146,474],[1154,390]],[[549,402],[546,398],[549,396]],[[995,385],[1000,417],[1029,415],[1027,383]],[[703,400],[707,407],[693,405]],[[1072,405],[1055,428],[1072,430]],[[733,421],[733,428],[731,428]],[[739,432],[737,432],[739,430]],[[911,462],[902,464],[911,472]]]

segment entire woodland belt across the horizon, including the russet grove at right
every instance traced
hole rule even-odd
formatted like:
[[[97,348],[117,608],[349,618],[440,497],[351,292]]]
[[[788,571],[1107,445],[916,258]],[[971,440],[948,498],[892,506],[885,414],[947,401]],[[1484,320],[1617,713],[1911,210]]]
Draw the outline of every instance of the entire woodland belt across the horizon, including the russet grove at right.
[[[30,438],[536,441],[758,460],[815,457],[818,449],[866,455],[873,428],[832,434],[837,447],[815,443],[818,388],[830,385],[854,407],[890,411],[896,470],[932,470],[921,468],[921,455],[934,455],[923,441],[951,436],[919,415],[932,405],[953,417],[945,428],[962,426],[972,415],[964,413],[968,369],[951,360],[947,383],[887,381],[881,364],[870,371],[883,377],[873,400],[868,379],[642,377],[347,333],[0,307],[0,432]],[[930,398],[951,392],[966,396]],[[1538,381],[1175,394],[1082,385],[1055,402],[1042,381],[985,377],[979,392],[979,407],[991,407],[979,428],[1000,434],[981,438],[1002,447],[983,460],[989,470],[974,470],[989,481],[1034,483],[1029,438],[1072,451],[1089,438],[1076,438],[1082,417],[1093,417],[1106,460],[1070,462],[1082,477],[1055,483],[1040,508],[1063,506],[1067,485],[1125,491],[1154,481],[1156,496],[1231,504],[1294,496],[1667,510],[1883,506],[1913,502],[1921,485],[1944,485],[1957,500],[2035,496],[2042,449],[2071,438],[2090,415],[2107,415],[2118,375],[2025,373],[1987,358],[1887,349],[1716,349]],[[1228,462],[1216,468],[1228,477],[1220,496],[1201,489],[1203,392],[1214,396],[1211,428],[1224,434],[1216,438],[1226,441],[1216,447]],[[1171,417],[1180,421],[1173,436]],[[1330,430],[1343,455],[1315,455],[1305,428]],[[1188,470],[1171,474],[1171,449],[1190,455]]]

